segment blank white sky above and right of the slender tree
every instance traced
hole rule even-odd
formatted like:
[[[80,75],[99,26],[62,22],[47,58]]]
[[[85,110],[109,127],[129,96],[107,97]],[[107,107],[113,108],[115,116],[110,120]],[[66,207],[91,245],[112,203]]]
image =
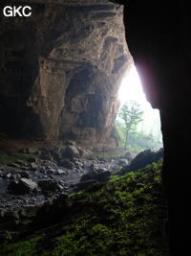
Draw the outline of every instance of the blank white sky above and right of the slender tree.
[[[152,106],[147,102],[135,65],[132,65],[132,68],[123,78],[118,91],[118,99],[121,105],[129,100],[137,101],[144,111],[144,120],[141,122],[141,124],[139,124],[139,128],[144,129],[144,131],[148,133],[150,130],[156,134],[159,133],[159,110],[153,109]]]

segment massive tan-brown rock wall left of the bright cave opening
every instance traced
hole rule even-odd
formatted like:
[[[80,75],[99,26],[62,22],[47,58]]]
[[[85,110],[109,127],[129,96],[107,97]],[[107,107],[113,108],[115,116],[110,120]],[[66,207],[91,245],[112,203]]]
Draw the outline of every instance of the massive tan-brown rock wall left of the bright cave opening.
[[[29,18],[1,16],[1,129],[112,148],[117,90],[132,61],[123,8],[106,0],[30,3]]]

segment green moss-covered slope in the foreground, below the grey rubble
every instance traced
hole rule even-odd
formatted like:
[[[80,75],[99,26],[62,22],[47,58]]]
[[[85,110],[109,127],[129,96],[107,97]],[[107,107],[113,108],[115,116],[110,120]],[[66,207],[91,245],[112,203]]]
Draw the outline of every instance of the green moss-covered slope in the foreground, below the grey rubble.
[[[69,214],[0,255],[166,256],[161,162],[70,195]]]

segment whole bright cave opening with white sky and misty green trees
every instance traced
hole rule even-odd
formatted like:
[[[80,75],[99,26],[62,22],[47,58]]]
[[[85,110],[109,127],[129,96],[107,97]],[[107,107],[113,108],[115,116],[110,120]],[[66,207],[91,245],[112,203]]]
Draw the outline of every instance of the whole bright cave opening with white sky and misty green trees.
[[[118,99],[120,106],[116,130],[119,147],[137,152],[147,149],[158,151],[162,148],[159,109],[154,109],[146,100],[134,64],[130,66],[121,81]]]

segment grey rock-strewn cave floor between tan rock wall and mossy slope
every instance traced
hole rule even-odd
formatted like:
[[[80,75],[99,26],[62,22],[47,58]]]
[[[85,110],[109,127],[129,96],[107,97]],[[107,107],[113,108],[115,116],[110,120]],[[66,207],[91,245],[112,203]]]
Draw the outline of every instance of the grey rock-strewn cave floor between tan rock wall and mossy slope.
[[[81,157],[84,151],[86,156],[89,153],[89,158]],[[40,150],[35,147],[19,148],[9,153],[1,151],[1,216],[5,212],[19,212],[26,207],[42,205],[97,181],[106,181],[128,164],[127,158],[96,156],[72,145]]]

